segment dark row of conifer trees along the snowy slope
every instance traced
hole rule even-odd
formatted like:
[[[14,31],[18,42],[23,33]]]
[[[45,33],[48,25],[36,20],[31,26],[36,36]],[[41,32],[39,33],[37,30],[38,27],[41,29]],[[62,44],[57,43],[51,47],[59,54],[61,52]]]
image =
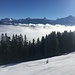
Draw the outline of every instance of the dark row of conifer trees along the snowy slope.
[[[22,34],[0,37],[0,65],[58,56],[75,51],[75,32],[52,32],[41,40],[27,40]]]

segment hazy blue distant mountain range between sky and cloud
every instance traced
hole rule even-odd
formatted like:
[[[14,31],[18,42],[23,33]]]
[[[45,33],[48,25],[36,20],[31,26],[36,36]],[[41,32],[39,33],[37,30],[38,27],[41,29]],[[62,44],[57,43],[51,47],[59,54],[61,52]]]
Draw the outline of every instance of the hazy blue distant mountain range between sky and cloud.
[[[61,24],[61,25],[75,25],[75,17],[72,16],[72,15],[69,15],[67,17],[64,17],[64,18],[58,18],[56,20],[49,20],[49,19],[46,19],[45,17],[43,19],[40,19],[40,18],[26,18],[26,19],[13,19],[13,18],[5,18],[5,19],[1,19],[0,20],[0,24],[7,24],[7,25],[10,25],[10,24],[18,24],[18,23],[22,23],[22,24],[29,24],[29,23],[32,23],[32,24],[52,24],[52,25],[55,25],[55,24]]]

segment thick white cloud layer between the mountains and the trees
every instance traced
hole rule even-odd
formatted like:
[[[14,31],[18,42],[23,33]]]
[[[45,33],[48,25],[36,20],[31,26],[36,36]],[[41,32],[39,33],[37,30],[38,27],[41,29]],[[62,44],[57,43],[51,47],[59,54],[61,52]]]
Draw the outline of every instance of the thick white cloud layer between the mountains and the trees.
[[[7,33],[9,36],[13,34],[27,35],[28,40],[41,38],[46,34],[50,34],[52,31],[64,32],[64,31],[75,31],[75,26],[65,26],[65,25],[50,25],[50,24],[20,24],[17,26],[13,25],[2,25],[0,26],[0,35],[2,33]]]

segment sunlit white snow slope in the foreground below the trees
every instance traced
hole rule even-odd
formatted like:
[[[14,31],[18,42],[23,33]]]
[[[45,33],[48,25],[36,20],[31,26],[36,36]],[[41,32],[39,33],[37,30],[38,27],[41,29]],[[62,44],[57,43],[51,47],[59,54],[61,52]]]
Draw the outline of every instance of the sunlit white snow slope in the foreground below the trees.
[[[0,75],[75,75],[75,53],[15,65],[3,65],[0,66]]]

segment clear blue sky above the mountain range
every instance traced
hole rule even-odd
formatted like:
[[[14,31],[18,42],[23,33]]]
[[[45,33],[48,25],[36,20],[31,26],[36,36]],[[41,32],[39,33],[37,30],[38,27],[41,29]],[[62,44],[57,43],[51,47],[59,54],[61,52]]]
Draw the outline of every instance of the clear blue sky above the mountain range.
[[[48,18],[75,16],[75,0],[0,0],[1,18]]]

